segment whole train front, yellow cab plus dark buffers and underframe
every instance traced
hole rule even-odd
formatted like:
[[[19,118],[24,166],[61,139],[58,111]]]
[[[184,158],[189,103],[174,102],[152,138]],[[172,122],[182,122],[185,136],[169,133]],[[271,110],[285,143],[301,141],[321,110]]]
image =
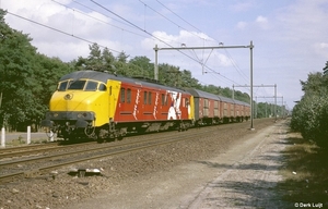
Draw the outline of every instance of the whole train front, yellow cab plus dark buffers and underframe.
[[[42,126],[65,139],[95,138],[108,120],[106,85],[91,78],[61,79]]]

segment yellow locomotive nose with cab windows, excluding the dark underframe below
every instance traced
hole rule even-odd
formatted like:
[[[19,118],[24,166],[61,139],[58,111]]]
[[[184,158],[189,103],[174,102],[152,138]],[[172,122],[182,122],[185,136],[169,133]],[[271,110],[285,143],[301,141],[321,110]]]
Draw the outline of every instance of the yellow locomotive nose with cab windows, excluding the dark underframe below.
[[[62,82],[50,99],[47,119],[60,124],[80,124],[82,127],[87,124],[101,126],[107,122],[106,99],[104,84],[95,81]]]

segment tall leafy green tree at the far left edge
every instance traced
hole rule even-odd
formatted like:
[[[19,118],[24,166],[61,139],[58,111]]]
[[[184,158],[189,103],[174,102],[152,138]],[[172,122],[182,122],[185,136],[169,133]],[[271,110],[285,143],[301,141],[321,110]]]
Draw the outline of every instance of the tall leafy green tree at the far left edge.
[[[33,63],[31,60],[36,54],[30,41],[32,40],[22,32],[10,28],[4,23],[1,11],[0,16],[0,93],[1,122],[12,123],[13,125],[26,120],[27,111],[33,109],[32,88],[35,86],[33,76]],[[26,111],[27,110],[27,111]]]

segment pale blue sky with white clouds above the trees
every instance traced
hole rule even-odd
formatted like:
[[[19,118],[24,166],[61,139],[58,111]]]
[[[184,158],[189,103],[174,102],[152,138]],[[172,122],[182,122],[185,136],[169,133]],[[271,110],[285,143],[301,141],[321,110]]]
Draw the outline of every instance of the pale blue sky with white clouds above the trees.
[[[0,0],[5,22],[38,52],[69,62],[89,46],[188,70],[202,85],[249,94],[292,109],[300,81],[328,61],[328,0]],[[190,49],[192,47],[238,47]],[[241,48],[239,48],[241,47]]]

